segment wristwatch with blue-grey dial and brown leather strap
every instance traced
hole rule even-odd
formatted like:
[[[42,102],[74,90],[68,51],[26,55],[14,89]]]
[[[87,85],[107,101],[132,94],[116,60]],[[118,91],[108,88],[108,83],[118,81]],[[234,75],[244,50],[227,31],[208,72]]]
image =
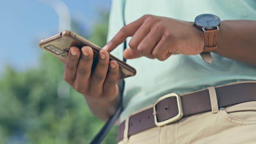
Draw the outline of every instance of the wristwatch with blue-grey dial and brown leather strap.
[[[203,47],[203,52],[200,55],[207,63],[211,63],[212,56],[210,52],[218,48],[217,36],[220,19],[218,16],[213,14],[201,14],[195,17],[193,25],[205,34],[205,46]]]

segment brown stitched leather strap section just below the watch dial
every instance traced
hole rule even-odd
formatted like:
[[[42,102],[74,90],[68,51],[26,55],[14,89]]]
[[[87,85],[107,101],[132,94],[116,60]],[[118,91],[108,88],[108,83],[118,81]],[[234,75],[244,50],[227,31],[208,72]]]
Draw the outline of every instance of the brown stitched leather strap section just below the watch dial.
[[[203,52],[211,52],[217,49],[217,36],[218,29],[205,31],[205,47],[203,48]]]

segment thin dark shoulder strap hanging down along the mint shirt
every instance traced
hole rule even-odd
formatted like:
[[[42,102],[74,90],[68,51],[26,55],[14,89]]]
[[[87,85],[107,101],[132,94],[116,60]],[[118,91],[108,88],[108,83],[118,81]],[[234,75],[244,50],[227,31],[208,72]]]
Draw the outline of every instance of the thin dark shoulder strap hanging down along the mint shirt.
[[[123,16],[123,23],[125,26],[125,0],[122,1],[122,16]],[[124,47],[123,49],[126,49],[126,40],[124,41]],[[123,61],[126,62],[126,59],[123,57]],[[120,85],[120,104],[118,106],[117,111],[115,111],[114,115],[108,119],[106,124],[101,128],[100,131],[98,131],[97,135],[94,136],[94,139],[91,140],[90,144],[98,144],[101,143],[104,139],[104,137],[108,134],[109,130],[113,127],[114,123],[117,121],[119,116],[121,115],[121,112],[123,111],[123,93],[124,93],[124,87],[125,87],[125,81],[121,80]]]

